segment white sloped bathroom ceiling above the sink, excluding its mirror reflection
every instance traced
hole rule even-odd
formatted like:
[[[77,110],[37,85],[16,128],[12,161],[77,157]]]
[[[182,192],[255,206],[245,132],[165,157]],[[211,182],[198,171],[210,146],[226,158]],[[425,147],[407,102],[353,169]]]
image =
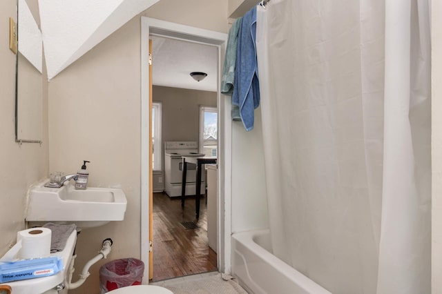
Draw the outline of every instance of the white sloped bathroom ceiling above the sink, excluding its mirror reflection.
[[[160,0],[39,0],[48,79]]]

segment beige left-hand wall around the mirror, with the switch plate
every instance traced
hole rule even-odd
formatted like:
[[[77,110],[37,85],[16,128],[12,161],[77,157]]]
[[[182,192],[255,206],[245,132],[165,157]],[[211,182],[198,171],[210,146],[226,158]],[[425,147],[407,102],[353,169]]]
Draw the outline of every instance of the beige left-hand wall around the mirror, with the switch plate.
[[[44,143],[15,143],[15,55],[9,50],[9,17],[17,19],[15,0],[0,1],[0,255],[15,244],[17,231],[25,228],[26,191],[48,174],[48,123]],[[45,88],[46,89],[46,88]],[[44,95],[47,117],[47,94]]]

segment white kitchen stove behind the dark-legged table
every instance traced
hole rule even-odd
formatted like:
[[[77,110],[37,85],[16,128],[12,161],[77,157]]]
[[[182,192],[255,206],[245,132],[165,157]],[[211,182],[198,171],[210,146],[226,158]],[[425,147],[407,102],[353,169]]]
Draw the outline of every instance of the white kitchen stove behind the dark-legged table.
[[[164,190],[169,197],[181,196],[182,188],[182,157],[202,157],[196,141],[165,141],[164,142]],[[206,191],[204,173],[201,177],[201,194]],[[186,195],[195,195],[196,166],[187,164]]]

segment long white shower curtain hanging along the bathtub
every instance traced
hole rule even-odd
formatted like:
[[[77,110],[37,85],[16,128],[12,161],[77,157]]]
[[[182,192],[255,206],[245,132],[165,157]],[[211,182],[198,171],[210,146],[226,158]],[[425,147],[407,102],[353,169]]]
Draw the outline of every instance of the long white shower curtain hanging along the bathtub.
[[[421,0],[271,0],[257,52],[275,255],[332,293],[430,293]]]

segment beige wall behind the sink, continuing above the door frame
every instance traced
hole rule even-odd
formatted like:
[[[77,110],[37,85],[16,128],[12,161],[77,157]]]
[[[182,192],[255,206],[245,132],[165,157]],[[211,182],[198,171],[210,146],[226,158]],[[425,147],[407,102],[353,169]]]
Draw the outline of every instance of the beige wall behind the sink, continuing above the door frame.
[[[224,0],[162,0],[142,14],[227,32]],[[50,170],[75,172],[83,159],[90,160],[90,186],[119,185],[128,199],[123,222],[79,235],[77,271],[97,254],[106,237],[114,240],[113,251],[70,293],[98,293],[102,264],[140,258],[140,18],[128,21],[49,83]]]

